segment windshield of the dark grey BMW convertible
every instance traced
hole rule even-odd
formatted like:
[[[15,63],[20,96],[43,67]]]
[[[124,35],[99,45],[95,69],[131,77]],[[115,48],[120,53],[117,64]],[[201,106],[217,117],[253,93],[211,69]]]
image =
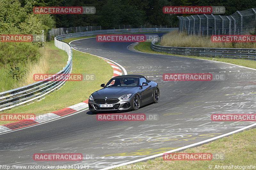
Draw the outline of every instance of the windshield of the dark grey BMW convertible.
[[[139,78],[136,77],[119,77],[113,78],[108,81],[106,87],[120,87],[120,86],[128,86],[128,87],[138,87]]]

